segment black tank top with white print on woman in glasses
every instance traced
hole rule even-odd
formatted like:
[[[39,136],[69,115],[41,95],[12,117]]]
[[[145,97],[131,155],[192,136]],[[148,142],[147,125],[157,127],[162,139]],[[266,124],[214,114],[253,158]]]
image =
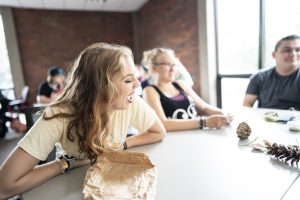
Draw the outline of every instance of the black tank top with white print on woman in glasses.
[[[164,109],[165,115],[167,118],[172,119],[191,119],[197,115],[195,109],[195,103],[191,102],[187,94],[181,89],[181,87],[173,82],[174,87],[179,90],[183,98],[181,100],[175,100],[165,96],[158,87],[151,85],[159,93],[160,102]]]

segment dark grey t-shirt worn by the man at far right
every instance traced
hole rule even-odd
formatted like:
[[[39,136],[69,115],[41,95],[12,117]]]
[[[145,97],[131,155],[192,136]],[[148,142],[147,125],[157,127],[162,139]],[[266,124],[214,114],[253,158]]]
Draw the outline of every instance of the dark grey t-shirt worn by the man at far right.
[[[300,70],[289,76],[279,75],[275,67],[254,75],[247,94],[257,95],[258,107],[300,110]]]

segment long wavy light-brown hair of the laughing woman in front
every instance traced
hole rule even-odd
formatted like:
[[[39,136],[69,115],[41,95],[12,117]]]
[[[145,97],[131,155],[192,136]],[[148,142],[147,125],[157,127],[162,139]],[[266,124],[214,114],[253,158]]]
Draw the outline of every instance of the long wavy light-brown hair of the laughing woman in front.
[[[71,66],[66,86],[49,108],[70,108],[43,118],[70,118],[67,137],[70,141],[78,138],[80,153],[94,163],[103,153],[104,139],[112,104],[118,96],[115,80],[123,72],[121,58],[132,57],[132,51],[125,46],[95,43],[84,49]],[[63,110],[63,109],[62,109]]]

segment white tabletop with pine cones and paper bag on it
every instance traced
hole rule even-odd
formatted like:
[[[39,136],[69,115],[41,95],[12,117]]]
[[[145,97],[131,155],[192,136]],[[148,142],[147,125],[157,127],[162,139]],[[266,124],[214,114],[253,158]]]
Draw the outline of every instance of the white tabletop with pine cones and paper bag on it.
[[[281,199],[284,194],[284,199],[288,199],[288,189],[293,189],[294,185],[291,185],[299,175],[299,169],[242,146],[256,137],[257,141],[266,139],[283,144],[300,142],[300,132],[290,132],[285,124],[265,122],[261,114],[267,111],[270,110],[241,108],[233,112],[235,120],[228,127],[172,132],[160,143],[131,151],[145,152],[156,164],[157,200],[273,200]],[[242,121],[252,129],[248,141],[240,141],[235,133]],[[22,198],[83,199],[87,168],[54,177],[22,194]]]

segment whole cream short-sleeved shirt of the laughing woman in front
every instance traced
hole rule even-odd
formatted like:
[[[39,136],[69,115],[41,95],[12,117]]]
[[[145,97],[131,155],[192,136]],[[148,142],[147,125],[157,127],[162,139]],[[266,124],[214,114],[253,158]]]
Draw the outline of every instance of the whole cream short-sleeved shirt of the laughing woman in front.
[[[58,109],[54,112],[59,112]],[[111,114],[109,134],[105,139],[105,147],[118,149],[126,139],[128,126],[131,125],[139,133],[150,128],[157,116],[146,102],[139,96],[126,110],[116,110]],[[44,120],[40,117],[18,145],[27,153],[39,160],[45,160],[53,149],[55,143],[60,143],[67,154],[79,155],[77,140],[71,142],[67,138],[69,119],[55,118]]]

